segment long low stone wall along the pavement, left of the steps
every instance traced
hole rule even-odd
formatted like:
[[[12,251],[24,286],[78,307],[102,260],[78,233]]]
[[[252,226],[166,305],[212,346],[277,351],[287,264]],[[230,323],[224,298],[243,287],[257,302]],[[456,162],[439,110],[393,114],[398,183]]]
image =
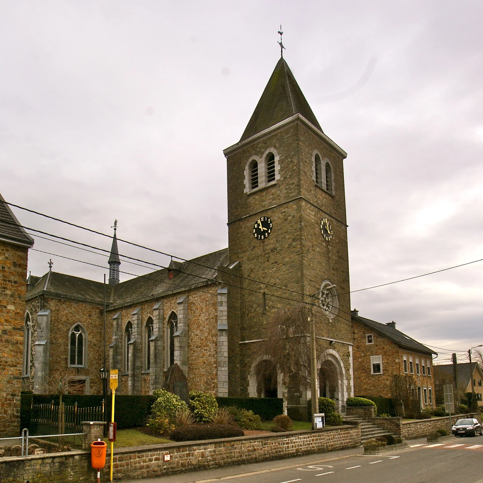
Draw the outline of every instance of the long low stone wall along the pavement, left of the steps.
[[[253,463],[290,456],[323,453],[360,445],[357,424],[318,431],[290,431],[262,436],[242,436],[199,442],[182,442],[121,448],[114,452],[114,478],[147,478],[171,473]],[[164,461],[164,455],[170,455]],[[2,483],[95,482],[90,452],[0,458]],[[109,454],[101,481],[109,481]]]

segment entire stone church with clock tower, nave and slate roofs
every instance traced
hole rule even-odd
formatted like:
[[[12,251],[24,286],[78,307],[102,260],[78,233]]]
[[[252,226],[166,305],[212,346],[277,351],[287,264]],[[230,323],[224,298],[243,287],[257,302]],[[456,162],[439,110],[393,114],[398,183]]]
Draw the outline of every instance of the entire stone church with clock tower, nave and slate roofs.
[[[28,281],[23,388],[45,392],[49,374],[102,392],[103,298],[107,369],[120,394],[150,394],[177,364],[190,390],[282,397],[282,378],[260,355],[277,311],[316,300],[320,395],[345,412],[354,395],[343,160],[284,58],[227,158],[228,248],[120,282],[114,231],[109,285],[49,270]],[[263,369],[264,368],[264,369]],[[262,374],[263,373],[263,374]],[[290,387],[289,412],[310,390]]]

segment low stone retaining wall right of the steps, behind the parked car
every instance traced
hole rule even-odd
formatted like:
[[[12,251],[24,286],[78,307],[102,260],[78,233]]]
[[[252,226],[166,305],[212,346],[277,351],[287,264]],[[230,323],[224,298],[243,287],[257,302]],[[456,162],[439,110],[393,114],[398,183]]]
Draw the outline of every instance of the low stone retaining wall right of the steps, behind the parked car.
[[[474,414],[458,414],[456,416],[451,416],[452,424],[461,418],[476,418],[478,421],[482,421],[481,412]],[[405,440],[412,440],[415,438],[422,438],[430,433],[434,433],[437,429],[445,429],[449,431],[450,421],[449,416],[431,418],[431,419],[416,419],[414,421],[403,421],[402,418],[372,418],[372,422],[377,425],[384,427],[388,431],[401,436]]]

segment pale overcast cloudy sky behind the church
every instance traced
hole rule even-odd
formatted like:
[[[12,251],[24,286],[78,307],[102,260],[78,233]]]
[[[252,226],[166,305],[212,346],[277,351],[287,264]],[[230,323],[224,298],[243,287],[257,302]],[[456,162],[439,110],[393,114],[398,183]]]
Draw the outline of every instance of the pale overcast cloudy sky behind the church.
[[[222,150],[255,109],[282,23],[284,57],[348,153],[351,289],[483,258],[481,1],[0,0],[0,11],[7,201],[108,233],[117,218],[121,238],[184,258],[226,247]],[[14,212],[26,226],[110,248]],[[29,257],[33,274],[48,270],[50,255]],[[105,270],[52,259],[55,271],[102,281]],[[446,352],[467,350],[483,343],[482,284],[479,262],[355,293],[351,305]]]

